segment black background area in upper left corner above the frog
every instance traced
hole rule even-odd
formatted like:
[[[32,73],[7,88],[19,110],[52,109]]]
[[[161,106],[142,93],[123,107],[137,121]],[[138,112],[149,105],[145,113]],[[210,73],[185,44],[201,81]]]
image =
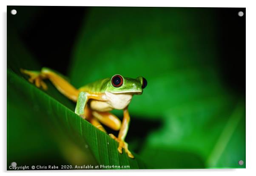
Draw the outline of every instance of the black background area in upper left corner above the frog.
[[[11,15],[11,9],[17,15]],[[40,65],[66,75],[88,7],[8,6],[7,11],[8,26],[15,28]]]

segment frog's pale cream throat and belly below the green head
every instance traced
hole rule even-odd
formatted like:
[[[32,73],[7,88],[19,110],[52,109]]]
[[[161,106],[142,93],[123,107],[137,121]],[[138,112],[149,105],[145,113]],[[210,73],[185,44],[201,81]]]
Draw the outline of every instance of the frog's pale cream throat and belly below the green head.
[[[128,93],[105,93],[106,102],[91,100],[90,107],[92,110],[101,112],[113,109],[122,110],[131,102],[132,95]]]

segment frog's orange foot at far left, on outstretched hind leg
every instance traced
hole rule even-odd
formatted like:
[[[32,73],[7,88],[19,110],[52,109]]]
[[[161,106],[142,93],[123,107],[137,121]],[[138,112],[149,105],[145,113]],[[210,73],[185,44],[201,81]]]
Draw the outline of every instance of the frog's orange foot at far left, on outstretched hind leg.
[[[29,82],[34,83],[38,88],[42,87],[44,90],[47,90],[47,85],[45,82],[43,82],[44,77],[40,71],[29,71],[20,69],[20,72],[30,77],[28,79]]]

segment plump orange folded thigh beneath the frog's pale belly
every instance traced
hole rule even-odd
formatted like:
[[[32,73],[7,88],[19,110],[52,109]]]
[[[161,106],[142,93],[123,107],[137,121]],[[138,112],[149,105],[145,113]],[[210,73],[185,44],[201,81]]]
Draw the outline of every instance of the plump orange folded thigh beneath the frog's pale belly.
[[[108,126],[111,129],[118,131],[121,127],[121,121],[116,115],[112,113],[92,111],[92,115],[97,118],[102,124]]]

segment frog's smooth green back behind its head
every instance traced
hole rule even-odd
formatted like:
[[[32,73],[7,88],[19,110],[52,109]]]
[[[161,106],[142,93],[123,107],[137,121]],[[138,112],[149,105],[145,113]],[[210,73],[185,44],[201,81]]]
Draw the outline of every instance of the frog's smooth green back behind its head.
[[[85,91],[88,93],[105,93],[105,90],[107,88],[109,81],[110,81],[110,78],[105,78],[102,80],[91,82],[91,83],[88,83],[88,84],[82,86],[78,90]]]

